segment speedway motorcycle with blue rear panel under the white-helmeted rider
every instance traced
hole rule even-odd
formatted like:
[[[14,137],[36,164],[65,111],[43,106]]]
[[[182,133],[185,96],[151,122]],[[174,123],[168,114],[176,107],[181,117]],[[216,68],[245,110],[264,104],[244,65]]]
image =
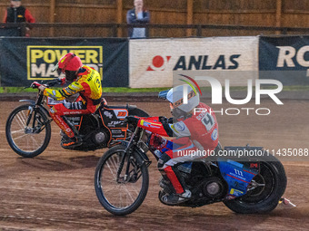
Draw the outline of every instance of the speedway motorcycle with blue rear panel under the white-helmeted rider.
[[[130,140],[108,149],[99,160],[95,169],[95,193],[108,212],[127,215],[143,203],[151,164],[146,153],[152,153],[156,160],[162,155],[159,149],[150,145],[152,136],[155,134],[135,127]],[[173,143],[166,141],[166,149],[173,149]],[[243,159],[234,158],[236,155],[220,155],[240,151],[259,155]],[[283,165],[262,147],[247,145],[222,149],[219,143],[211,156],[179,163],[175,168],[192,192],[190,199],[174,205],[179,207],[202,207],[223,202],[236,213],[266,213],[282,202],[286,188]],[[160,180],[160,187],[158,197],[165,204],[162,197],[174,193],[174,188],[164,178]]]

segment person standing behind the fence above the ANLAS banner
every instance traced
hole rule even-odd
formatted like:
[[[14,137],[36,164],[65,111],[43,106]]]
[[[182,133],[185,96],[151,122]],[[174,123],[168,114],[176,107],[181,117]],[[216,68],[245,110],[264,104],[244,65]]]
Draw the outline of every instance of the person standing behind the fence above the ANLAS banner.
[[[126,14],[127,24],[149,24],[150,13],[145,10],[143,0],[135,0],[134,4],[135,8]],[[148,37],[148,28],[131,27],[128,33],[131,38],[146,38]]]

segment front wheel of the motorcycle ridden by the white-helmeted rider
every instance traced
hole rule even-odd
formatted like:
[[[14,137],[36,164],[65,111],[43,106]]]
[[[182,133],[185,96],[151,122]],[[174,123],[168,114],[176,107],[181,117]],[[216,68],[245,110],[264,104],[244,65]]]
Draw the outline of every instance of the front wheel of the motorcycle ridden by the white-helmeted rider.
[[[119,176],[117,172],[125,162]],[[143,203],[149,184],[148,168],[137,153],[125,154],[117,145],[105,152],[95,169],[95,193],[101,205],[114,215],[133,213]]]

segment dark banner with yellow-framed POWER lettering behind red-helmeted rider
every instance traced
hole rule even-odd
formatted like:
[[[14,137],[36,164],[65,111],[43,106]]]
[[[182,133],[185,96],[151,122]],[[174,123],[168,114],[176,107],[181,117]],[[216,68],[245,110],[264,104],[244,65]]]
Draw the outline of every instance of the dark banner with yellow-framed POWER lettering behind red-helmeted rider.
[[[128,85],[126,39],[4,38],[0,48],[1,86],[28,86],[59,77],[52,69],[65,53],[75,53],[98,71],[104,87]]]

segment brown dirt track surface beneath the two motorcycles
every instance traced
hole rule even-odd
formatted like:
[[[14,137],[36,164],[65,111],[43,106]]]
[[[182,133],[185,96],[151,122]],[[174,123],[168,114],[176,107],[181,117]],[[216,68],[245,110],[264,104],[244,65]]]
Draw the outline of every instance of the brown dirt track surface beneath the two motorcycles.
[[[95,166],[105,149],[95,152],[61,149],[55,123],[49,147],[40,156],[23,159],[9,148],[5,121],[20,104],[0,102],[0,230],[309,230],[308,161],[284,161],[288,179],[284,196],[297,205],[292,209],[277,207],[267,215],[237,215],[223,203],[199,208],[167,207],[157,199],[160,175],[153,163],[143,205],[132,215],[115,217],[105,211],[95,196]],[[133,104],[151,115],[169,116],[166,102]],[[254,104],[247,106],[256,108]],[[214,110],[221,107],[228,106],[216,106]],[[222,144],[250,143],[266,149],[309,148],[309,101],[284,101],[284,106],[266,101],[263,107],[271,109],[271,114],[217,114]]]

